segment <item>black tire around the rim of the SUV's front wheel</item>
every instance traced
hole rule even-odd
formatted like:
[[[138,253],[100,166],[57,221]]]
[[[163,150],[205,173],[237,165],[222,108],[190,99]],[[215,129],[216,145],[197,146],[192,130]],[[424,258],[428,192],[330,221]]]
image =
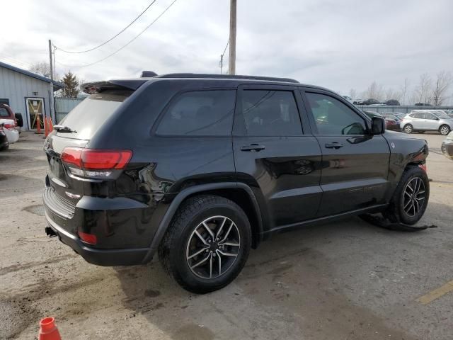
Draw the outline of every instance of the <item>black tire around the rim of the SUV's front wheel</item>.
[[[406,186],[408,186],[409,183],[413,183],[413,180],[415,181],[415,179],[419,179],[420,181],[423,182],[423,186],[425,188],[425,193],[424,193],[425,196],[424,196],[423,203],[420,203],[420,201],[418,201],[419,202],[418,203],[418,206],[419,206],[418,212],[415,213],[415,210],[414,210],[413,211],[414,213],[412,214],[411,213],[412,211],[408,213],[404,209],[404,205],[407,204],[405,201],[408,199],[407,196],[409,196],[409,200],[411,200],[410,195],[405,194],[405,191],[406,191]],[[421,184],[420,184],[420,188],[422,188]],[[421,192],[421,190],[420,190],[420,192]],[[420,197],[421,196],[418,196],[418,198],[420,198]],[[420,169],[418,166],[408,166],[408,168],[406,168],[406,170],[403,172],[403,176],[401,176],[398,186],[396,186],[394,196],[391,199],[389,206],[383,212],[383,215],[384,215],[384,217],[387,217],[391,222],[394,222],[394,223],[403,223],[405,225],[415,225],[415,223],[417,223],[420,220],[420,218],[423,216],[423,214],[425,213],[426,207],[428,206],[429,198],[430,198],[430,183],[429,183],[428,176],[426,175],[425,171]]]

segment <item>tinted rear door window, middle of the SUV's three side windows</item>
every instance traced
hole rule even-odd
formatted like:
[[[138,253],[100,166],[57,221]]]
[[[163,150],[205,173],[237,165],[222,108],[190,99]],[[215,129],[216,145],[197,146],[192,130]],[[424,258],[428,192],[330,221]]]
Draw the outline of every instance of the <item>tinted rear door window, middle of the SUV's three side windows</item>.
[[[293,91],[244,90],[242,114],[248,136],[302,135]]]

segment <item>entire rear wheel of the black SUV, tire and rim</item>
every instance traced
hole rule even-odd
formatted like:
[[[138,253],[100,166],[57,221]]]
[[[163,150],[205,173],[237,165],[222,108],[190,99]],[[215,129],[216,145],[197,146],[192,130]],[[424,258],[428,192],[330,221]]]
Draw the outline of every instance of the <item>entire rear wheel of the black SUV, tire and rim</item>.
[[[209,293],[231,283],[251,248],[245,212],[220,196],[195,196],[176,212],[159,259],[173,278],[193,293]]]

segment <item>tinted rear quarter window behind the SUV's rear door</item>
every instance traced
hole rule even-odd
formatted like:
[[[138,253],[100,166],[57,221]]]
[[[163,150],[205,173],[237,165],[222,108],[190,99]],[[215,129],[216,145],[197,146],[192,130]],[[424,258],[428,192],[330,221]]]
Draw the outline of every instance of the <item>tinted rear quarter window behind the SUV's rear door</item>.
[[[231,136],[235,90],[190,91],[180,94],[156,129],[157,135]]]

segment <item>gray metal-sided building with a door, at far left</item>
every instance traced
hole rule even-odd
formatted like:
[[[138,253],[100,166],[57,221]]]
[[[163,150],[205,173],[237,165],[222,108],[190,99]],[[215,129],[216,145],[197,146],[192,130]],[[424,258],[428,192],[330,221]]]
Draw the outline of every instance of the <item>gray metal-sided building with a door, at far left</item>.
[[[38,115],[41,127],[44,116],[55,123],[54,91],[62,87],[58,81],[0,62],[0,103],[22,114],[23,130],[35,130]]]

